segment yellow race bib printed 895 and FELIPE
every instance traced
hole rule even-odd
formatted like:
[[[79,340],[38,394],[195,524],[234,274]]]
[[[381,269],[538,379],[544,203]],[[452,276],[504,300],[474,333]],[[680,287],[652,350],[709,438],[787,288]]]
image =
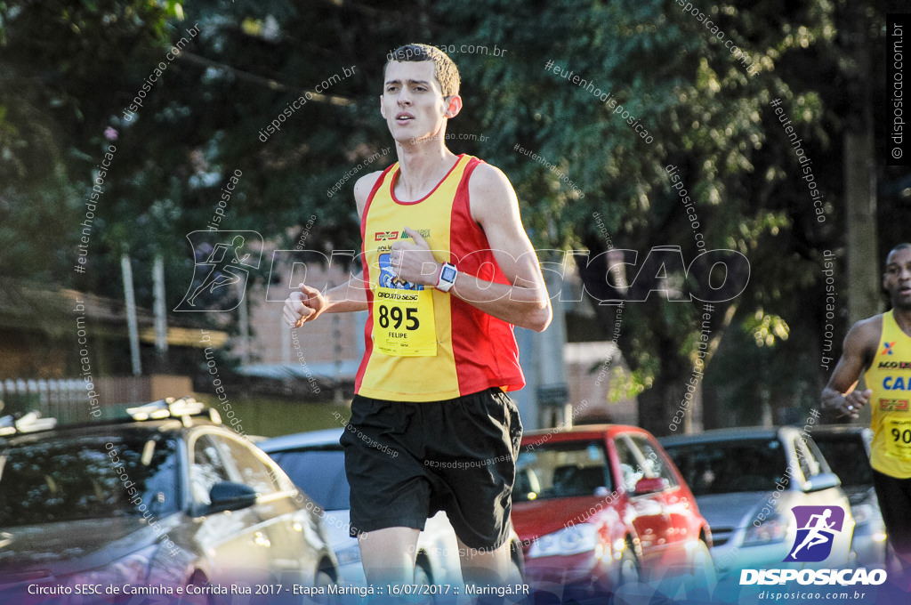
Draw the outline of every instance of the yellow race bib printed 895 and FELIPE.
[[[377,288],[374,292],[374,347],[396,357],[435,355],[433,291]]]

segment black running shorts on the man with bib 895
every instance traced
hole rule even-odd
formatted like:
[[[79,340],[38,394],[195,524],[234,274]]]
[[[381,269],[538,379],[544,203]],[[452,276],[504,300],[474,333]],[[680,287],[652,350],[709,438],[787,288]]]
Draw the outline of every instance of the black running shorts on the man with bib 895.
[[[444,510],[469,548],[496,549],[509,511],[522,423],[501,389],[435,402],[354,395],[340,439],[351,485],[351,535],[424,529]]]

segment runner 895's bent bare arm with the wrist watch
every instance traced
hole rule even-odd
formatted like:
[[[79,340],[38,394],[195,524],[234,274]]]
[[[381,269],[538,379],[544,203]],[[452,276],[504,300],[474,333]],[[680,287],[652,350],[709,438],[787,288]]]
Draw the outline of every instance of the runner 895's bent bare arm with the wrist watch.
[[[506,175],[486,164],[475,169],[468,192],[472,216],[484,229],[509,283],[487,282],[459,272],[450,293],[497,319],[542,332],[552,317],[550,299],[537,254],[522,227],[516,192]],[[415,243],[395,242],[393,264],[400,267],[404,280],[435,286],[440,264],[424,238],[409,232]],[[428,265],[435,269],[428,271]]]

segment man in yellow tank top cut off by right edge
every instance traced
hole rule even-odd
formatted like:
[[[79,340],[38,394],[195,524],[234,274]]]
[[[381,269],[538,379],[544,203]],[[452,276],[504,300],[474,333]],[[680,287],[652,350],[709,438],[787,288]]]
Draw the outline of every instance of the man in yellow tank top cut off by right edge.
[[[911,569],[911,244],[885,257],[892,311],[854,324],[823,390],[823,407],[856,418],[872,402],[870,465],[889,543]],[[865,390],[855,388],[864,374]]]

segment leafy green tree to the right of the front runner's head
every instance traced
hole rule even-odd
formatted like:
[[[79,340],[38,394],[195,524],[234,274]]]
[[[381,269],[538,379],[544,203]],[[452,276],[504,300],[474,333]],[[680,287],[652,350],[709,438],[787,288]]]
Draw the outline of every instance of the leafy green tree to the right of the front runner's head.
[[[824,249],[840,243],[835,224],[843,219],[833,203],[841,189],[841,149],[824,125],[844,110],[834,91],[844,59],[837,37],[844,10],[822,2],[749,10],[704,5],[687,13],[660,2],[565,1],[509,11],[497,11],[499,3],[488,6],[493,10],[459,3],[446,12],[469,40],[515,40],[519,46],[512,60],[466,56],[464,62],[485,74],[484,93],[472,100],[485,108],[479,128],[495,132],[486,153],[519,183],[537,242],[604,250],[592,220],[597,211],[614,246],[644,256],[653,246],[680,245],[691,259],[701,251],[699,231],[707,249],[739,251],[751,265],[747,290],[715,305],[711,350],[737,326],[764,330],[752,346],[775,347],[773,358],[781,364],[798,367],[798,360],[818,358],[820,260]],[[596,98],[589,83],[609,91],[616,106]],[[776,98],[815,160],[825,222],[808,200],[802,164],[770,105]],[[630,112],[629,121],[615,113],[619,105]],[[648,128],[652,141],[631,122]],[[537,162],[510,153],[516,142],[566,172],[585,197]],[[670,166],[678,167],[698,227],[671,186]],[[589,291],[603,288],[604,274],[589,273],[598,280],[587,283]],[[683,282],[680,272],[668,278],[670,286]],[[701,310],[653,296],[627,305],[620,343],[641,390],[640,423],[663,434],[671,430],[693,371]],[[603,324],[613,323],[609,307],[598,309]],[[814,337],[785,346],[792,324]],[[736,366],[750,367],[761,351],[737,340],[742,350],[728,354],[741,360]],[[754,381],[773,373],[738,375]],[[804,396],[778,398],[774,405],[810,405],[807,394],[814,388],[801,385],[818,384],[818,374],[793,379],[797,384],[788,392]],[[716,409],[749,410],[767,396],[754,392]]]

